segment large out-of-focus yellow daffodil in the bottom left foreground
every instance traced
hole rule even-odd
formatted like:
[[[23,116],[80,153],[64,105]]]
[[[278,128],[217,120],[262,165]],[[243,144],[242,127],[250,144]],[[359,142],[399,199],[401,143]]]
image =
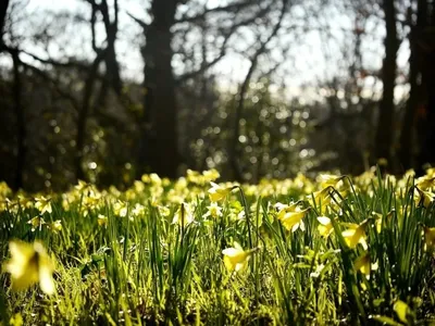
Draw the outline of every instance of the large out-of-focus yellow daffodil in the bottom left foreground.
[[[39,283],[42,292],[54,293],[54,263],[42,243],[11,241],[9,250],[11,260],[5,263],[4,271],[11,274],[13,290],[24,290]]]

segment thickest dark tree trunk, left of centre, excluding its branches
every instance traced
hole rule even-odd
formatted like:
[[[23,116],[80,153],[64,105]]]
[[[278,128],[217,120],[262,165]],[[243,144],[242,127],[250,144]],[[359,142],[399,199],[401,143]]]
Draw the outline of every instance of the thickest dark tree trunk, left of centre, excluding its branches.
[[[145,116],[141,123],[139,171],[175,178],[179,164],[177,150],[177,105],[171,48],[176,0],[153,0],[153,21],[146,29]]]

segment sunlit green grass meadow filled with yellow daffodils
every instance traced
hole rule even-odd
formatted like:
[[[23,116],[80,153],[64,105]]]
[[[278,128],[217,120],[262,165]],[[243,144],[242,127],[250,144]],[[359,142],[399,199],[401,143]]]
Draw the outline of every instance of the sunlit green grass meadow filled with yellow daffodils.
[[[1,325],[434,323],[433,170],[210,186],[217,177],[44,197],[1,184],[2,265],[10,241],[38,240],[57,287],[15,292],[2,273]]]

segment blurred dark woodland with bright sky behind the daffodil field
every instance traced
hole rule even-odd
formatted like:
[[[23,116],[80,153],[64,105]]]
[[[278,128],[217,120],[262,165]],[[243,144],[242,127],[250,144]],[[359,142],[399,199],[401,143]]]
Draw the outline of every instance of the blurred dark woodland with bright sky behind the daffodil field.
[[[0,36],[14,189],[435,162],[435,1],[1,0]]]

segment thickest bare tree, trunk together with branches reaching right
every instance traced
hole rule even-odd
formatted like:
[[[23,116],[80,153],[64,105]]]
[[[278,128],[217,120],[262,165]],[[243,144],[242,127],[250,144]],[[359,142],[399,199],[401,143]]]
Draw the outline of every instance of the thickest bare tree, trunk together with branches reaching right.
[[[169,177],[176,175],[182,162],[177,148],[178,108],[175,89],[181,83],[204,73],[216,64],[225,55],[228,40],[237,28],[252,24],[263,16],[270,10],[272,2],[269,5],[262,5],[260,1],[238,0],[213,9],[204,7],[202,11],[194,14],[188,11],[181,18],[175,18],[181,3],[175,0],[152,1],[150,9],[152,22],[149,25],[132,15],[142,27],[146,40],[142,49],[145,114],[141,121],[138,165],[148,166],[151,171]],[[172,70],[174,54],[171,47],[171,40],[174,37],[172,28],[182,24],[197,24],[214,14],[227,14],[231,17],[225,22],[224,27],[220,28],[224,40],[219,55],[210,62],[202,63],[198,70],[175,76]]]

